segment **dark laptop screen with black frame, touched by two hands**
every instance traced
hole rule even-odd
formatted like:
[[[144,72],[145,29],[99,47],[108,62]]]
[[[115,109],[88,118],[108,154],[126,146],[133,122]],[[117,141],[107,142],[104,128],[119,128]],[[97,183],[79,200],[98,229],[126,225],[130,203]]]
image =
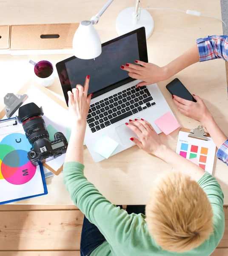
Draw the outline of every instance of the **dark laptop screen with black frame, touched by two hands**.
[[[102,44],[102,53],[95,59],[84,60],[73,56],[57,63],[66,102],[67,91],[75,88],[76,84],[84,85],[87,75],[90,76],[88,94],[94,93],[93,98],[133,81],[120,66],[135,60],[148,62],[144,28]]]

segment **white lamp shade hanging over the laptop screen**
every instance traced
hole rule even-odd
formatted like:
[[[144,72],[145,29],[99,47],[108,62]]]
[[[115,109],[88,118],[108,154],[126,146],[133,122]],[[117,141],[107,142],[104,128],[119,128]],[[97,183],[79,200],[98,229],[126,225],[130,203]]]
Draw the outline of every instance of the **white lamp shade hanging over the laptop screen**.
[[[73,54],[77,58],[92,59],[101,54],[100,37],[89,20],[80,23],[73,38]]]

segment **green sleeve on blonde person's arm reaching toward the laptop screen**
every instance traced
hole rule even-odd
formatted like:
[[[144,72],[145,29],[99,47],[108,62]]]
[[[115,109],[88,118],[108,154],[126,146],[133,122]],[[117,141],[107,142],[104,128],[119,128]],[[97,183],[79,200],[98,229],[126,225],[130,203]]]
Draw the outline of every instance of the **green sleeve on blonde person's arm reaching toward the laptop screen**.
[[[63,166],[63,182],[74,204],[95,224],[111,246],[123,244],[131,233],[134,214],[111,204],[83,174],[84,166],[68,162]]]

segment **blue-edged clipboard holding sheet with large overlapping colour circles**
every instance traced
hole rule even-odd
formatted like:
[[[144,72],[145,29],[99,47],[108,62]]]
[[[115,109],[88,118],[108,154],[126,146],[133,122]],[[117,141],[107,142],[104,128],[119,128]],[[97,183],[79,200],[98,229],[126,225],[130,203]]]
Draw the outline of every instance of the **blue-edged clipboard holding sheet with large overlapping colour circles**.
[[[0,120],[0,147],[0,204],[47,195],[43,166],[29,163],[30,145],[16,117]]]

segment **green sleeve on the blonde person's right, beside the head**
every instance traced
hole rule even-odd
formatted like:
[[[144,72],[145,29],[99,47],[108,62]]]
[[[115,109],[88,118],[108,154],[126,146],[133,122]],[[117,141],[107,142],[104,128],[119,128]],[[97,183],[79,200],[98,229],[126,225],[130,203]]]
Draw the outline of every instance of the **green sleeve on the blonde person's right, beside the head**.
[[[198,183],[208,196],[212,206],[214,213],[214,247],[217,247],[225,230],[224,195],[217,180],[208,172],[205,172]]]

